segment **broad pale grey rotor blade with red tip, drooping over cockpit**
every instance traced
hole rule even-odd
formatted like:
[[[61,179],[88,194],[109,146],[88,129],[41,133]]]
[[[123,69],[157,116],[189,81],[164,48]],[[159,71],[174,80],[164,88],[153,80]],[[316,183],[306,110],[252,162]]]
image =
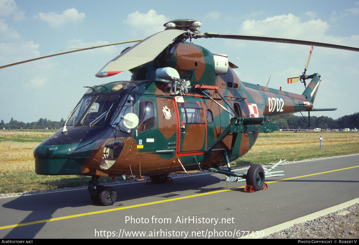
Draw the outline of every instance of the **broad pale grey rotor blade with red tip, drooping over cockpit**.
[[[112,76],[153,61],[173,39],[185,32],[187,31],[171,29],[151,35],[108,62],[96,76]]]

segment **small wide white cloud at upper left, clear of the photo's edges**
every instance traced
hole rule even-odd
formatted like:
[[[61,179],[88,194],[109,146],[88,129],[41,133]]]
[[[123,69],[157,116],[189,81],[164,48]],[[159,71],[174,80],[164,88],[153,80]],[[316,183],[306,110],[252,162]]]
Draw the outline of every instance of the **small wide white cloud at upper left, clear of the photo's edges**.
[[[75,8],[66,9],[62,14],[57,14],[55,12],[50,13],[39,13],[39,18],[47,22],[50,27],[60,27],[66,23],[82,21],[85,18],[85,13],[79,13]]]

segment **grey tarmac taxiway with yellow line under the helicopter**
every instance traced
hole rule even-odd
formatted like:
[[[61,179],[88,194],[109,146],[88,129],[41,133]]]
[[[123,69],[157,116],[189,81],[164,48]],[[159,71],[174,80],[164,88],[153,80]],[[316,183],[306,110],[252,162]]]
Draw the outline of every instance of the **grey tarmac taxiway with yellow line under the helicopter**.
[[[113,186],[113,206],[87,189],[0,198],[2,238],[237,238],[359,197],[359,155],[283,164],[269,188],[244,193],[222,174]],[[244,170],[243,172],[245,172]],[[238,188],[239,187],[239,188]],[[267,235],[267,234],[264,234]]]

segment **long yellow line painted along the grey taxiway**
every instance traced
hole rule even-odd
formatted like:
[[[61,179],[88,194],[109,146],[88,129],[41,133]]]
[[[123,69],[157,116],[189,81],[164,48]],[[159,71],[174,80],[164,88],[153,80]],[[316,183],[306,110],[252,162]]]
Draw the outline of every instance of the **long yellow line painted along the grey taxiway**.
[[[321,172],[321,173],[307,174],[307,175],[293,177],[293,178],[279,179],[279,180],[276,180],[276,181],[271,181],[271,182],[266,182],[266,183],[269,184],[269,183],[274,183],[274,182],[279,182],[279,181],[286,181],[286,180],[289,180],[289,179],[298,179],[298,178],[314,176],[314,175],[324,174],[324,173],[331,173],[331,172],[336,172],[336,171],[345,170],[345,169],[351,169],[351,168],[358,168],[358,167],[359,167],[359,165],[354,166],[354,167],[349,167],[349,168],[341,168],[341,169],[336,169],[336,170],[330,170],[330,171]],[[230,188],[230,189],[223,189],[223,190],[219,190],[219,191],[211,191],[211,192],[207,192],[207,193],[195,194],[195,195],[191,195],[191,196],[177,197],[177,198],[172,198],[172,199],[168,199],[168,200],[142,203],[142,204],[127,206],[127,207],[111,208],[111,209],[108,209],[108,210],[101,210],[101,211],[88,212],[88,213],[80,213],[80,214],[77,214],[77,215],[69,215],[69,216],[58,217],[58,218],[49,218],[47,220],[38,220],[38,221],[27,222],[27,223],[16,224],[16,225],[1,226],[0,230],[19,227],[19,226],[25,226],[25,225],[39,224],[39,223],[43,223],[43,222],[50,222],[50,221],[56,221],[56,220],[65,220],[67,218],[75,218],[75,217],[81,217],[81,216],[87,216],[87,215],[94,215],[94,214],[98,214],[98,213],[113,212],[113,211],[124,210],[124,209],[128,209],[128,208],[143,207],[143,206],[154,205],[154,204],[163,203],[163,202],[171,202],[171,201],[176,201],[176,200],[181,200],[181,199],[186,199],[186,198],[191,198],[191,197],[199,197],[199,196],[215,194],[215,193],[220,193],[220,192],[225,192],[225,191],[233,191],[235,189],[244,188],[244,187],[245,186],[241,186],[241,187],[235,187],[235,188]]]

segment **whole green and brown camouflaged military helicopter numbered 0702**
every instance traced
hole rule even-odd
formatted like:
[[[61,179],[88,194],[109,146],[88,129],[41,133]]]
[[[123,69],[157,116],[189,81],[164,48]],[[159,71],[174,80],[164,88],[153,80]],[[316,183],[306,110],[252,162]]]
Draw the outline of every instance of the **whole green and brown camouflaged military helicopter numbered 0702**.
[[[306,75],[313,45],[359,51],[357,47],[322,42],[201,33],[200,21],[177,19],[165,30],[126,48],[108,62],[97,77],[132,73],[130,81],[115,81],[87,87],[64,125],[34,149],[35,172],[43,175],[90,176],[90,199],[98,205],[113,205],[117,193],[98,185],[100,177],[127,176],[164,183],[170,173],[193,173],[208,169],[227,176],[227,181],[246,181],[259,191],[265,178],[283,176],[253,164],[246,173],[236,173],[230,162],[242,157],[255,144],[259,133],[279,130],[272,117],[295,112],[335,110],[313,108],[320,75]],[[312,45],[302,75],[304,91],[295,94],[242,82],[238,68],[226,54],[213,54],[193,43],[197,38],[229,38]],[[189,42],[187,41],[189,39]],[[17,62],[0,68],[55,55]],[[308,85],[306,80],[310,80]],[[85,86],[84,86],[85,87]],[[226,165],[228,169],[219,167]]]

